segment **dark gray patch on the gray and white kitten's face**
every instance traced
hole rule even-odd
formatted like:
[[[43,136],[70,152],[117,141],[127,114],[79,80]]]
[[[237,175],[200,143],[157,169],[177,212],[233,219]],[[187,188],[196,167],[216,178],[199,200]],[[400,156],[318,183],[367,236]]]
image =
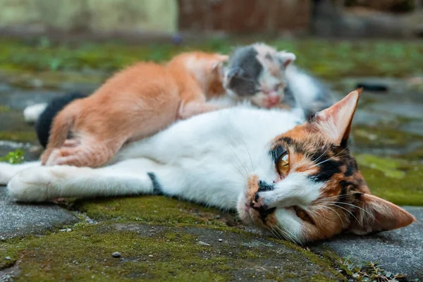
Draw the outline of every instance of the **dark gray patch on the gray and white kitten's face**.
[[[257,54],[254,47],[241,47],[229,59],[227,87],[237,96],[252,96],[260,87],[259,77],[263,66],[257,60]]]

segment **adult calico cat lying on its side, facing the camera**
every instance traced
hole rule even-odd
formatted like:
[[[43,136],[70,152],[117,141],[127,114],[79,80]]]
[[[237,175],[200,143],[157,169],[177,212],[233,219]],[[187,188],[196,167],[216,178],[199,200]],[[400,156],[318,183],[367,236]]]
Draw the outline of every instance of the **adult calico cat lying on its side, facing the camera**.
[[[0,164],[0,182],[25,202],[158,194],[236,209],[299,244],[407,226],[415,218],[370,193],[348,149],[359,97],[309,121],[246,105],[213,111],[130,143],[102,168]]]

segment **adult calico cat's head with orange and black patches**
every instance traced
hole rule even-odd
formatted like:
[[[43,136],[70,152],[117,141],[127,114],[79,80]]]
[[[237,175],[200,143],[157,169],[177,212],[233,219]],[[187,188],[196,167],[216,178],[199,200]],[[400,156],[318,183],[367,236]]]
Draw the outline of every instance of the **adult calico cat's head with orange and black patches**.
[[[238,200],[243,221],[295,243],[341,232],[388,231],[415,221],[370,193],[350,154],[348,135],[359,97],[360,90],[351,92],[271,141]]]

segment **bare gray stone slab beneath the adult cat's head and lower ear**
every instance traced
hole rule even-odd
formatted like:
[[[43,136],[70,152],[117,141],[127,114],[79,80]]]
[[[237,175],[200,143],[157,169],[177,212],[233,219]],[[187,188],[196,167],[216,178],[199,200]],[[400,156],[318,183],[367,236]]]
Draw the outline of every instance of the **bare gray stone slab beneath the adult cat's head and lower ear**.
[[[360,262],[379,262],[392,273],[407,274],[409,279],[423,278],[423,207],[405,207],[417,222],[406,228],[367,236],[342,235],[310,249],[327,248],[341,257],[351,256]]]

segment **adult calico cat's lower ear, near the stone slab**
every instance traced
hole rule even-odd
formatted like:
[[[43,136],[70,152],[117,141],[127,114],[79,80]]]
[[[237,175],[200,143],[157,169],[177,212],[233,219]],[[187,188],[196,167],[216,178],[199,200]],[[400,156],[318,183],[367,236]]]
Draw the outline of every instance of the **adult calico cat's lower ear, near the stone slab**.
[[[357,235],[388,231],[410,225],[416,221],[409,212],[384,199],[361,194],[362,206],[357,209],[356,219],[349,231]]]

